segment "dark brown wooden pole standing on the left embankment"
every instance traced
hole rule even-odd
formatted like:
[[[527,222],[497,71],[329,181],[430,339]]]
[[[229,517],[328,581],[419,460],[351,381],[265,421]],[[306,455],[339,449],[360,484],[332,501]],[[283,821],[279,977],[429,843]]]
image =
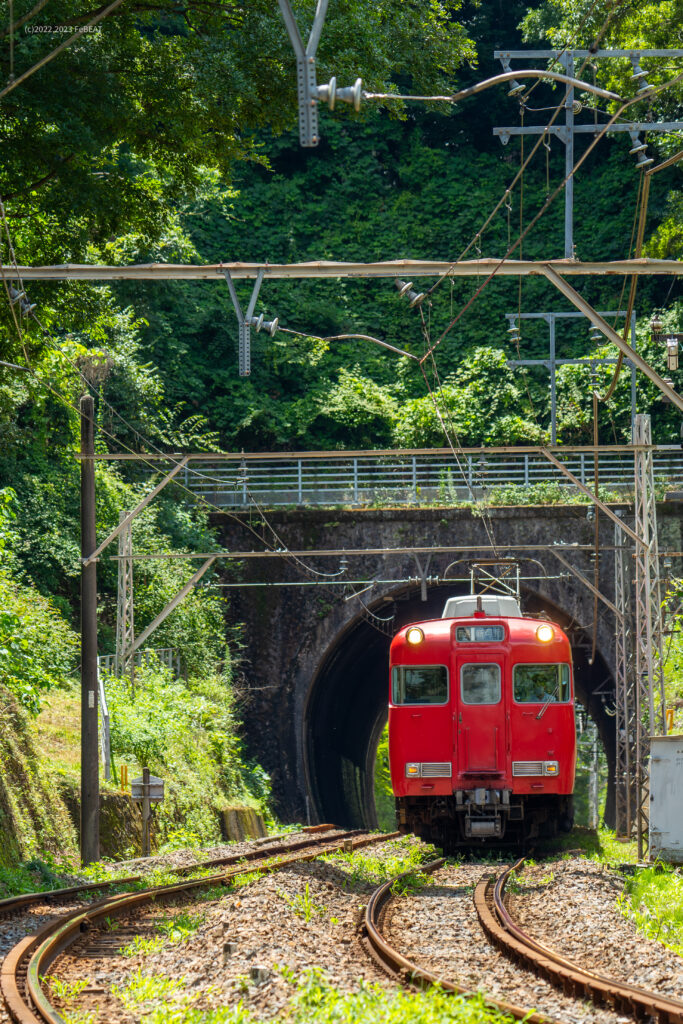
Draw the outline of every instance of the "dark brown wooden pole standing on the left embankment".
[[[81,860],[99,860],[95,403],[81,398]]]

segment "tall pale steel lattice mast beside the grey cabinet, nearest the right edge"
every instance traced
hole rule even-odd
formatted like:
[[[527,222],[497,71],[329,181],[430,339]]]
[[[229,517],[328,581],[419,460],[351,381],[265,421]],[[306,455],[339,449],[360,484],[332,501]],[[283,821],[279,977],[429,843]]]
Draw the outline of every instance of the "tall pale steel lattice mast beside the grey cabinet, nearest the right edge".
[[[634,444],[636,484],[636,830],[642,858],[649,821],[649,774],[646,761],[650,736],[667,731],[661,646],[661,597],[657,518],[652,470],[652,431],[649,416],[637,416]]]

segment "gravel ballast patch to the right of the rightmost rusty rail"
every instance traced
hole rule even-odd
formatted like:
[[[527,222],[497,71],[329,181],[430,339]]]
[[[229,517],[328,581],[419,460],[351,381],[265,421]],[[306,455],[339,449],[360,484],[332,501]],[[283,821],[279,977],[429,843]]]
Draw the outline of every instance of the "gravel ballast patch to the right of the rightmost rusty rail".
[[[621,877],[572,859],[526,867],[520,882],[508,908],[533,938],[599,974],[683,998],[683,958],[639,935],[620,912]]]

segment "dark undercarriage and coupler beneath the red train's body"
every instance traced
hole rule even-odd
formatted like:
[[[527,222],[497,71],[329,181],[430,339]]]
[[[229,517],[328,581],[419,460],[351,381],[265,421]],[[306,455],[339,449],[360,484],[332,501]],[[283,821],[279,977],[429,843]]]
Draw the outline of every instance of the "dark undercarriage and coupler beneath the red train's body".
[[[524,846],[570,831],[570,796],[520,796],[510,790],[457,791],[452,797],[397,797],[398,829],[444,853],[482,846]]]

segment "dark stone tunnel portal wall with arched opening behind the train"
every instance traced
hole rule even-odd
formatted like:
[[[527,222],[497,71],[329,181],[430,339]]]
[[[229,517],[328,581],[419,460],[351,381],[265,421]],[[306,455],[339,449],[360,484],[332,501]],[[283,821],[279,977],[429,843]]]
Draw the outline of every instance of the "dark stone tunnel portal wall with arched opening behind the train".
[[[681,508],[681,503],[667,502],[658,509],[661,543],[676,551],[683,545]],[[538,582],[527,581],[523,607],[530,612],[545,610],[570,637],[577,694],[596,722],[607,755],[609,823],[613,821],[614,719],[608,711],[614,691],[614,617],[601,605],[598,653],[595,664],[589,665],[593,597],[581,580],[581,574],[592,579],[594,523],[575,505],[501,507],[489,509],[488,518],[501,551],[528,550],[530,545],[537,566],[541,561],[548,572]],[[221,517],[217,523],[224,550],[253,546],[254,524],[249,514],[244,519],[243,523],[239,517],[229,521]],[[268,544],[269,531],[274,530],[278,544],[292,551],[339,554],[374,549],[375,554],[351,561],[353,571],[369,581],[414,578],[415,549],[457,545],[463,557],[489,549],[481,517],[465,508],[300,509],[268,512],[267,519],[262,528]],[[247,541],[245,525],[251,530]],[[574,572],[563,572],[552,555],[553,546],[560,544]],[[385,550],[386,556],[377,553]],[[430,571],[442,578],[454,557],[444,548],[442,555],[433,557]],[[313,560],[313,565],[328,573],[338,568],[339,560],[328,556]],[[611,600],[614,565],[605,548],[600,573],[600,588]],[[246,559],[240,569],[245,586],[230,592],[229,621],[241,626],[245,643],[240,671],[246,739],[251,756],[272,779],[274,805],[284,820],[302,821],[308,813],[311,821],[372,824],[372,761],[386,714],[389,637],[360,616],[357,601],[344,600],[341,588],[313,586],[321,577],[312,577],[291,559],[282,565],[275,559],[265,563]],[[290,589],[288,581],[305,586]],[[278,582],[278,589],[264,586],[269,582]],[[383,583],[378,588],[378,600],[370,607],[386,615],[395,602],[396,628],[411,620],[440,615],[445,598],[457,593],[452,586],[433,586],[423,603],[416,584]]]

